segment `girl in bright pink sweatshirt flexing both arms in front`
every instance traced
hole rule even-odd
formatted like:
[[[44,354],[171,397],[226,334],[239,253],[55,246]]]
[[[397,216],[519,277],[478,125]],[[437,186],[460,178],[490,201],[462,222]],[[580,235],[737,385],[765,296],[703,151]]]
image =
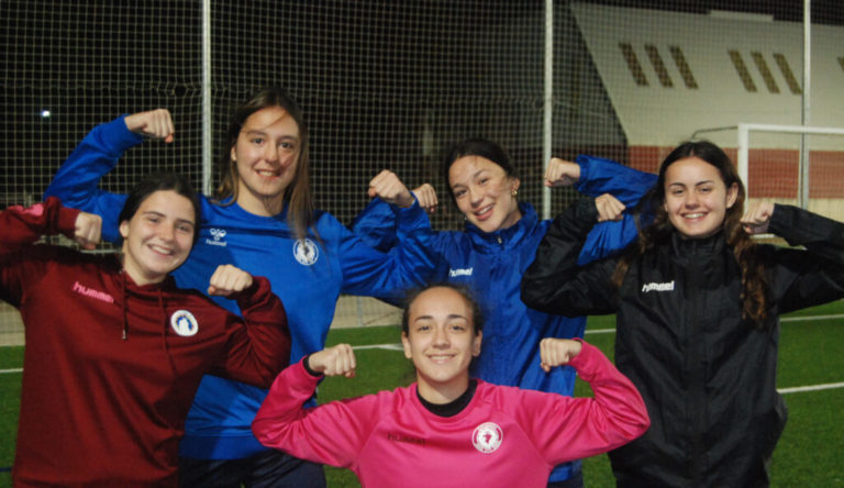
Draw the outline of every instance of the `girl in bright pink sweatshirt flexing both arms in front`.
[[[582,341],[543,340],[536,367],[577,368],[595,398],[470,379],[481,329],[465,290],[426,288],[409,298],[402,319],[414,384],[303,409],[323,376],[354,376],[352,347],[340,344],[285,369],[253,431],[264,445],[352,469],[365,487],[544,487],[554,466],[619,447],[647,430],[638,391]]]

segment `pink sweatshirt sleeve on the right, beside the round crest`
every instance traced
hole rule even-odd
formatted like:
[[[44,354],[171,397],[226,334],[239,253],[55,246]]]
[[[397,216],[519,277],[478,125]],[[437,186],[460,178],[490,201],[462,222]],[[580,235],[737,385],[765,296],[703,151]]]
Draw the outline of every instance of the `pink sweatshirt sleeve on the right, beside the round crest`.
[[[595,346],[584,343],[569,363],[589,382],[595,398],[526,392],[520,423],[552,465],[620,447],[651,425],[636,387]]]

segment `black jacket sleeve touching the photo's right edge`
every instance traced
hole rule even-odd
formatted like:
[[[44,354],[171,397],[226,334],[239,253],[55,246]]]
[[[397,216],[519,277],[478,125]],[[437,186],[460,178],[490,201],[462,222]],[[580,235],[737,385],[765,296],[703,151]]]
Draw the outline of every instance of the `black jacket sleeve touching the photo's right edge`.
[[[806,247],[776,251],[773,292],[780,313],[844,297],[844,224],[776,204],[769,230],[791,246]]]

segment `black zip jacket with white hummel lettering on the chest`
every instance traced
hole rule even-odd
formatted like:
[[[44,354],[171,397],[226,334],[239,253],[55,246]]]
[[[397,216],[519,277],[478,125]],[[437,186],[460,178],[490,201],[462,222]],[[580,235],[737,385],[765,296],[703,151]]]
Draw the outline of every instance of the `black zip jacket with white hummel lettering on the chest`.
[[[522,300],[560,314],[618,313],[615,364],[645,399],[651,429],[610,453],[619,486],[767,486],[786,423],[776,391],[778,314],[844,296],[844,225],[776,206],[770,232],[807,251],[759,245],[769,321],[742,320],[741,270],[721,233],[636,257],[620,289],[617,259],[576,265],[597,220],[586,199],[557,217],[522,281]]]

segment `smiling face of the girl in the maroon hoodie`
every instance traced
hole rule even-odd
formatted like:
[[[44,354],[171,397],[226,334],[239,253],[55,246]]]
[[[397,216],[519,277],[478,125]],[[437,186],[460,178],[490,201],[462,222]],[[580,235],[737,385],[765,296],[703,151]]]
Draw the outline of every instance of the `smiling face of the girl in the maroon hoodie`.
[[[193,246],[195,211],[173,190],[151,193],[130,220],[120,223],[123,269],[137,285],[160,282],[178,268]]]

